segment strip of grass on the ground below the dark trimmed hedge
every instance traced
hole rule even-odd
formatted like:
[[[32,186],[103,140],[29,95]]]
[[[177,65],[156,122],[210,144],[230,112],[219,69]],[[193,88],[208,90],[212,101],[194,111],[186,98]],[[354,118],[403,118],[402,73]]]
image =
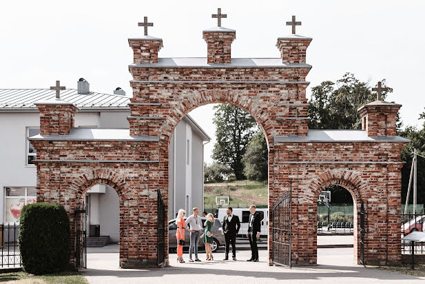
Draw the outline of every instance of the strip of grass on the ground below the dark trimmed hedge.
[[[17,283],[17,284],[87,284],[84,276],[79,272],[61,272],[54,274],[45,274],[34,276],[25,272],[9,272],[0,273],[0,282]]]

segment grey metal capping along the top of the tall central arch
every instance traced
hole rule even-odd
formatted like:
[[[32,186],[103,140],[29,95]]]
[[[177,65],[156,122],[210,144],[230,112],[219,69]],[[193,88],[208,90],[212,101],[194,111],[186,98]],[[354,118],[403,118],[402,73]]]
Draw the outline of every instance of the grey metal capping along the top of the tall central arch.
[[[231,63],[208,64],[207,57],[167,57],[158,58],[158,63],[133,63],[129,67],[200,67],[200,68],[223,68],[223,67],[262,67],[262,68],[311,68],[306,63],[282,63],[280,58],[232,58]]]

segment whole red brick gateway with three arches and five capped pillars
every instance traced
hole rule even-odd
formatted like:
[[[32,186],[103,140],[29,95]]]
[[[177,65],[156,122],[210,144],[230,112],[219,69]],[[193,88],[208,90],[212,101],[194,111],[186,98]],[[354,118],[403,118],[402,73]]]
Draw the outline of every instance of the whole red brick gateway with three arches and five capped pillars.
[[[78,109],[72,103],[38,102],[41,134],[30,138],[37,150],[37,200],[65,205],[73,221],[75,198],[81,192],[76,181],[103,179],[116,184],[123,232],[120,265],[156,267],[157,193],[163,195],[168,210],[172,131],[200,105],[231,103],[251,114],[267,137],[269,207],[289,189],[289,179],[293,181],[293,227],[298,232],[293,234],[293,263],[316,262],[313,207],[318,190],[333,181],[346,181],[356,199],[367,201],[366,261],[400,263],[400,152],[407,142],[395,133],[401,105],[384,101],[364,105],[362,130],[308,130],[305,79],[311,65],[305,63],[305,55],[311,38],[296,34],[278,38],[281,56],[275,59],[231,59],[234,30],[204,30],[203,38],[206,58],[164,59],[158,59],[162,39],[129,39],[134,52],[134,63],[129,65],[133,77],[129,130],[74,128]],[[106,176],[92,178],[92,173]],[[386,230],[380,230],[382,222]],[[164,265],[169,263],[167,255]]]

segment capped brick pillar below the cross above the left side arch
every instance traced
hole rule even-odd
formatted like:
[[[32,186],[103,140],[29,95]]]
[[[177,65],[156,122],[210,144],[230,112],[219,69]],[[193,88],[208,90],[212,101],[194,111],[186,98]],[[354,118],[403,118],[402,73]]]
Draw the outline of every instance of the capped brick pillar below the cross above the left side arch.
[[[74,127],[74,116],[79,110],[75,105],[61,99],[35,103],[40,112],[40,134],[68,135]]]

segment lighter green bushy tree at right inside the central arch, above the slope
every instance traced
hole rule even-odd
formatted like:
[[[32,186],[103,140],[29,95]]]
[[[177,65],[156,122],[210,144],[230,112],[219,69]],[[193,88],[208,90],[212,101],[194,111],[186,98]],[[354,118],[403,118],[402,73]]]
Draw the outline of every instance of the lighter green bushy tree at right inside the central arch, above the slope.
[[[268,173],[267,143],[262,131],[252,137],[247,146],[242,162],[244,174],[248,179],[265,181]]]

